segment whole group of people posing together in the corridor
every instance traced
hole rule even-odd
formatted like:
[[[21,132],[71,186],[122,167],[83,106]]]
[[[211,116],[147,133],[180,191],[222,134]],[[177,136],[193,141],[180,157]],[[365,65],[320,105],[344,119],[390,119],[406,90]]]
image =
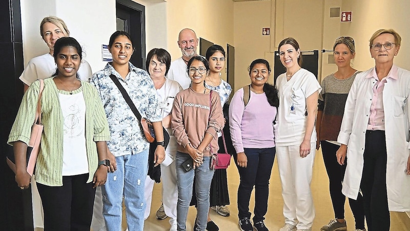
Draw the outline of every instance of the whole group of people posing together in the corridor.
[[[150,143],[133,107],[154,129],[153,160],[161,166],[162,179],[156,216],[170,217],[170,231],[187,230],[190,205],[197,207],[194,230],[219,229],[211,209],[230,215],[227,171],[210,167],[212,154],[226,149],[240,176],[237,207],[243,231],[268,230],[264,219],[275,156],[285,218],[279,230],[312,230],[310,185],[320,146],[335,211],[321,230],[347,229],[345,196],[356,230],[366,230],[364,218],[368,230],[388,230],[389,210],[410,209],[405,196],[410,189],[410,72],[393,64],[401,45],[394,30],[373,34],[375,67],[364,72],[351,66],[353,38],[339,37],[333,47],[338,70],[321,84],[301,67],[298,42],[285,38],[278,52],[286,72],[275,86],[267,83],[269,62],[256,59],[249,67],[250,85],[237,90],[230,104],[232,88],[220,78],[224,49],[213,45],[206,57],[198,55],[191,29],[179,33],[179,59],[171,62],[166,50],[154,48],[147,70],[130,63],[132,39],[116,31],[108,46],[112,62],[94,74],[60,18],[44,18],[40,34],[50,52],[32,59],[20,76],[26,92],[8,143],[14,146],[17,185],[26,189],[34,182],[38,188],[45,230],[121,230],[123,200],[128,229],[144,229],[154,181],[147,176]],[[45,79],[40,99],[44,131],[33,181],[26,151],[39,79]],[[167,147],[163,128],[170,135]]]

